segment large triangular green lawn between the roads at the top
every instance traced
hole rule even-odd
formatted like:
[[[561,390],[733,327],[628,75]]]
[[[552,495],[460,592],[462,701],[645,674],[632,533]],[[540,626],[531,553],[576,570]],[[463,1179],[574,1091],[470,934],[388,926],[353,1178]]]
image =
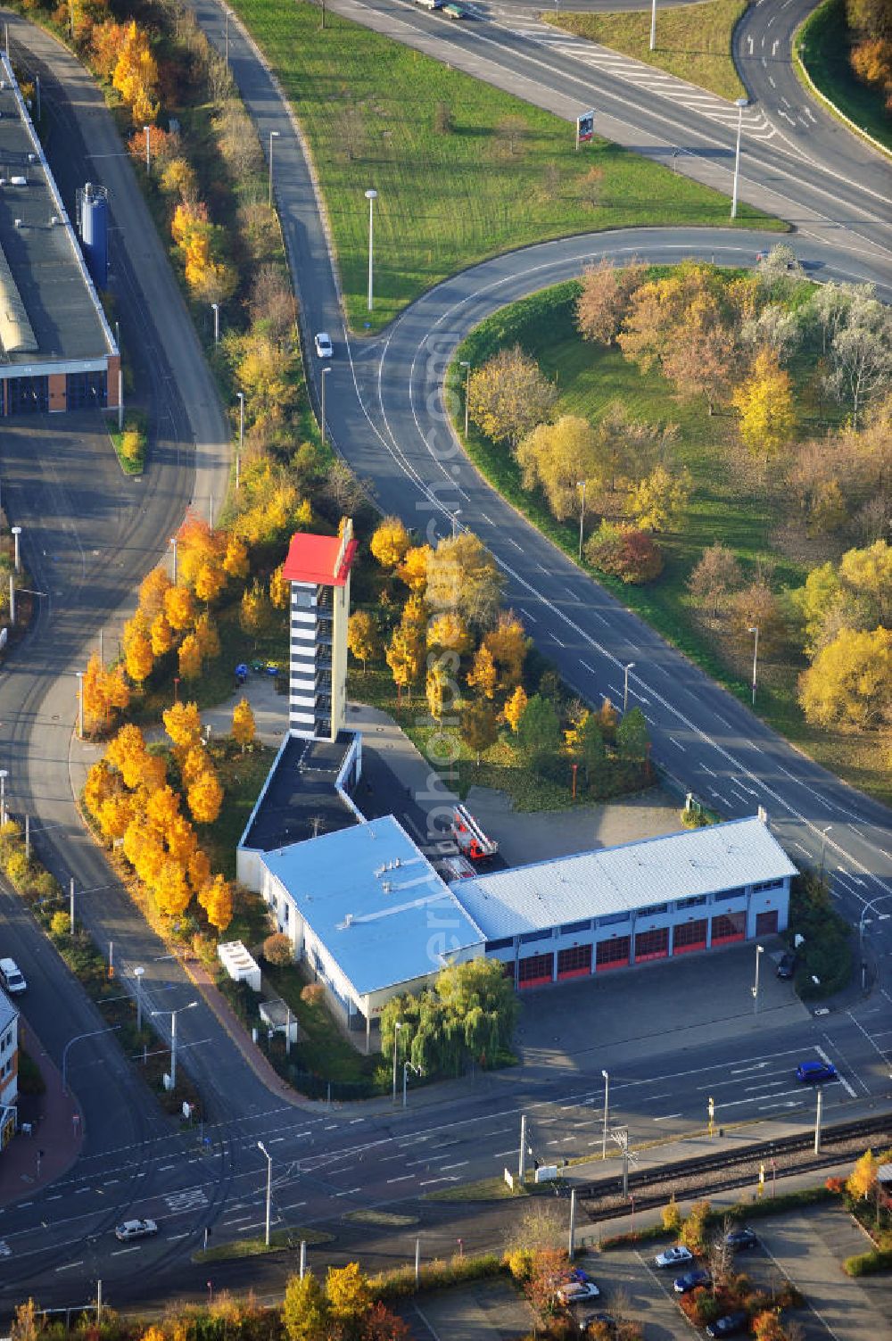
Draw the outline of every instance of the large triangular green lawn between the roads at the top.
[[[286,0],[237,0],[307,137],[341,267],[350,325],[380,327],[447,275],[511,247],[592,229],[727,224],[728,201],[337,15]],[[432,19],[432,23],[436,23]],[[506,125],[507,123],[507,125]],[[601,168],[594,202],[586,176]],[[376,304],[366,311],[376,201]],[[743,227],[783,225],[748,207]]]

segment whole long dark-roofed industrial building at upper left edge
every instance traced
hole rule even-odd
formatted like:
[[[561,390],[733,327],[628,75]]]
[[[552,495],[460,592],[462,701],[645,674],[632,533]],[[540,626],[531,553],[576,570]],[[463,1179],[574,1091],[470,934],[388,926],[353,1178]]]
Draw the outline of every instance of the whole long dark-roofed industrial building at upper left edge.
[[[0,413],[118,404],[119,357],[5,54],[0,60]]]

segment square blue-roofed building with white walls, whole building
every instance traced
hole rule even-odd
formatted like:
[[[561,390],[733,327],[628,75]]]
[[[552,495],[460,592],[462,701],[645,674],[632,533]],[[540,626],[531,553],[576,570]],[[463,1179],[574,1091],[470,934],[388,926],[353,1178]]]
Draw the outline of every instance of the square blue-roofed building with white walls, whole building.
[[[355,1027],[449,960],[483,955],[484,936],[393,815],[321,834],[260,858],[262,894],[295,956]]]

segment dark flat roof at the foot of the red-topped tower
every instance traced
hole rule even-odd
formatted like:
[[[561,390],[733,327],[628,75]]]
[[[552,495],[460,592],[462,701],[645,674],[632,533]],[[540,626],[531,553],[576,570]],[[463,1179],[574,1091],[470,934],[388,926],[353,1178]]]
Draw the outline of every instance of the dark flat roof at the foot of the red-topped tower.
[[[337,740],[290,736],[240,846],[270,852],[317,834],[353,827],[357,818],[335,787],[351,744],[350,731],[338,732]]]

